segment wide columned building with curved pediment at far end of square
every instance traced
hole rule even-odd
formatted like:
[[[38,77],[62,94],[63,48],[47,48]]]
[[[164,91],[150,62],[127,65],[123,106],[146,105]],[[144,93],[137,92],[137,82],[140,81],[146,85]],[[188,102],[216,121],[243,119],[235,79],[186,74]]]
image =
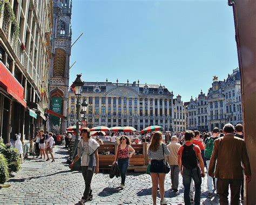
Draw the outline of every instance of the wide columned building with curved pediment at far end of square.
[[[185,126],[185,109],[181,96],[173,99],[173,93],[164,86],[139,84],[138,82],[116,83],[86,82],[82,99],[89,104],[86,110],[87,126],[105,125],[133,126],[142,130],[146,126],[160,125],[164,130],[173,130],[173,116],[177,114],[178,129]],[[178,110],[174,108],[178,106]],[[69,124],[76,122],[76,96],[70,90]],[[180,109],[181,108],[181,109]],[[180,117],[181,116],[181,117]]]

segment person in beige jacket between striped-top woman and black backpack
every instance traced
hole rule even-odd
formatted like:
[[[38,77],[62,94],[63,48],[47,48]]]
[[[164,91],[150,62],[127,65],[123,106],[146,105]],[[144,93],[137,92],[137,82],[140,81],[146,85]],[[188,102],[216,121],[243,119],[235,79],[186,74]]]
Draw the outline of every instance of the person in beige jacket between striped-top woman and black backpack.
[[[179,165],[178,165],[178,150],[181,145],[178,143],[178,137],[172,136],[171,142],[167,145],[167,148],[170,151],[170,155],[168,155],[168,163],[171,167],[171,182],[172,182],[172,190],[174,192],[178,192],[179,186]]]

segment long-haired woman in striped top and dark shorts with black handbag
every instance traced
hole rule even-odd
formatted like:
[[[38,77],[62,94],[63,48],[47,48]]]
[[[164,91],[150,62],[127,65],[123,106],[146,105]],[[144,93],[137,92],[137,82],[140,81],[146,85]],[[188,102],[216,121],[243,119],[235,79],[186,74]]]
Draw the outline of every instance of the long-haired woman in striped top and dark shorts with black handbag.
[[[150,174],[152,179],[152,197],[153,204],[157,203],[157,187],[159,185],[161,201],[160,204],[166,204],[164,199],[164,181],[165,174],[170,172],[170,166],[165,162],[165,154],[170,155],[166,144],[162,142],[161,132],[154,132],[149,146],[148,159],[150,165]]]

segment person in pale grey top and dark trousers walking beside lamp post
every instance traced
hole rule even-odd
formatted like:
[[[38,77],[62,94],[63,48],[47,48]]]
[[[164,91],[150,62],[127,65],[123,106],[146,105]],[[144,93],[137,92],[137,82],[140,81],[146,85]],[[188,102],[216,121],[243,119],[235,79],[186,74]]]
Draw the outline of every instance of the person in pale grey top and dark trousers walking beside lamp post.
[[[85,182],[84,194],[82,200],[79,201],[80,205],[83,205],[86,201],[92,200],[91,181],[93,173],[99,173],[99,144],[95,139],[91,137],[90,129],[83,128],[81,130],[82,139],[77,146],[77,155],[73,162],[70,164],[70,168],[81,159],[82,174]]]

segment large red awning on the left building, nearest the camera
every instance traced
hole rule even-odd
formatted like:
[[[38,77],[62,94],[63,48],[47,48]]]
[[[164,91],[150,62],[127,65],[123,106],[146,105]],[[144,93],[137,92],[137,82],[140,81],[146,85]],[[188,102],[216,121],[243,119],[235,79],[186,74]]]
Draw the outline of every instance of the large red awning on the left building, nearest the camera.
[[[24,88],[17,81],[17,79],[6,68],[2,61],[0,61],[0,82],[6,86],[7,92],[14,97],[19,103],[26,107],[26,101],[24,100]]]

